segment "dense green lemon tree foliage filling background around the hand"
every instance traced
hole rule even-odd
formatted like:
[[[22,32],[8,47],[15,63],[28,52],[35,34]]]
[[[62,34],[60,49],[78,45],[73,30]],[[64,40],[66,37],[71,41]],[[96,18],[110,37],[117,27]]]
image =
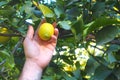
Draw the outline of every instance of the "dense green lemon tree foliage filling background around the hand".
[[[0,80],[17,80],[25,56],[27,19],[56,21],[56,52],[42,80],[120,80],[119,0],[0,0],[0,27],[14,33],[0,44]],[[39,7],[38,7],[39,5]]]

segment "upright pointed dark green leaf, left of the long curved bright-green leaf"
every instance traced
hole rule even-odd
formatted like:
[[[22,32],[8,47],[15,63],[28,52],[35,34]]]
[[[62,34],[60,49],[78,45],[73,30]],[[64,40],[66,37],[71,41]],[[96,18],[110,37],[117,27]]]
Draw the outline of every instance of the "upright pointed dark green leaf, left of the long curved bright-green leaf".
[[[82,16],[79,16],[77,18],[77,21],[75,21],[75,23],[73,23],[71,27],[72,33],[74,34],[75,39],[78,41],[81,39],[83,34],[83,25],[84,23],[83,23]]]

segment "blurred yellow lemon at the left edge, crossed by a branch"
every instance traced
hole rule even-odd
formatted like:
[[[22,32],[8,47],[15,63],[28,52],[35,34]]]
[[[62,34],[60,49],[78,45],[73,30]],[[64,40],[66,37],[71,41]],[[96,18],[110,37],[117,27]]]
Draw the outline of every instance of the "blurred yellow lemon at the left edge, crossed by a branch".
[[[0,27],[0,33],[2,34],[9,34],[9,30],[7,28]],[[7,41],[10,40],[10,37],[8,36],[0,36],[0,43],[6,43]]]

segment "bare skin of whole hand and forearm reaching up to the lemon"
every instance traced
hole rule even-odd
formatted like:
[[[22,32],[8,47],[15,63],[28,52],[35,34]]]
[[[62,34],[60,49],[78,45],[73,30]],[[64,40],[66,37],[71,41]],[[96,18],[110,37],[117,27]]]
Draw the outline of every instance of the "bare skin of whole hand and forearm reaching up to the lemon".
[[[41,21],[40,24],[44,22],[45,20]],[[53,26],[55,27],[54,35],[49,41],[41,40],[38,35],[38,29],[34,32],[33,27],[29,26],[23,42],[26,61],[19,80],[39,80],[41,77],[37,78],[37,75],[41,75],[42,70],[49,64],[57,43],[59,31],[56,28],[56,23],[53,23]],[[36,78],[27,79],[27,76],[31,76],[32,72],[34,74],[32,77]]]

